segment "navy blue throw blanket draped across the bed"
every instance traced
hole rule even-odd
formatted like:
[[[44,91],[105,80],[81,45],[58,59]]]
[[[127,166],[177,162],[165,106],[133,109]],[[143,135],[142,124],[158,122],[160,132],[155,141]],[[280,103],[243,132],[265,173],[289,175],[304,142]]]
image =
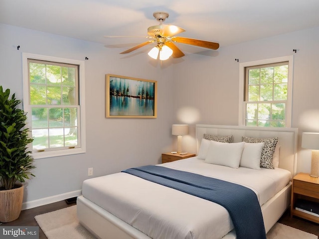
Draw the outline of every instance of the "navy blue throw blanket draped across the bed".
[[[232,219],[237,239],[266,239],[261,208],[256,194],[249,188],[155,165],[129,168],[122,172],[223,206]]]

